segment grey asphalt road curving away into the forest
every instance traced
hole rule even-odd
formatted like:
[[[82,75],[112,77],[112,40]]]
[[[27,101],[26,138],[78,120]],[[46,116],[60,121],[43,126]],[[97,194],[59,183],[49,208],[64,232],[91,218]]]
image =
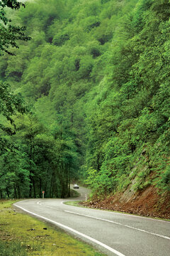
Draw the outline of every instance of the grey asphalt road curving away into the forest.
[[[84,200],[89,193],[87,188],[77,191],[81,193],[77,200]],[[28,199],[15,206],[57,225],[106,255],[170,256],[170,222],[65,205],[64,201],[69,200]]]

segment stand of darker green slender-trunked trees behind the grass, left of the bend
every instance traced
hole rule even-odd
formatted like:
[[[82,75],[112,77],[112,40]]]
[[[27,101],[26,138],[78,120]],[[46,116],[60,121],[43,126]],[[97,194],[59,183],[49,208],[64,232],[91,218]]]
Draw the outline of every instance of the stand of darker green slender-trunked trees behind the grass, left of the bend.
[[[44,127],[34,114],[18,115],[15,142],[0,158],[1,192],[8,197],[69,196],[70,176],[74,175],[79,152],[74,132],[64,124]]]

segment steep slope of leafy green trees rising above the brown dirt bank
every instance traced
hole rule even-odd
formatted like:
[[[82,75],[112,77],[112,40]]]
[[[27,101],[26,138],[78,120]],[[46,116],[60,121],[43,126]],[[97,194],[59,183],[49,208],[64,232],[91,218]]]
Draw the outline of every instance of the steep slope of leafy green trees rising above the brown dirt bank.
[[[134,164],[138,171],[146,167],[142,176],[139,174],[143,188],[152,183],[152,178],[147,180],[150,171],[159,170],[159,157],[165,156],[162,163],[168,161],[169,8],[164,9],[167,5],[168,1],[139,1],[116,31],[118,41],[109,55],[106,77],[96,86],[101,91],[94,107],[89,108],[95,110],[88,119],[87,155],[89,166],[97,170],[95,193],[103,191],[104,179],[112,191],[122,189],[123,179],[128,178]],[[146,148],[147,154],[142,156]],[[93,179],[94,173],[89,170]],[[157,175],[162,177],[159,188],[168,189],[169,169],[160,168],[154,177]]]

